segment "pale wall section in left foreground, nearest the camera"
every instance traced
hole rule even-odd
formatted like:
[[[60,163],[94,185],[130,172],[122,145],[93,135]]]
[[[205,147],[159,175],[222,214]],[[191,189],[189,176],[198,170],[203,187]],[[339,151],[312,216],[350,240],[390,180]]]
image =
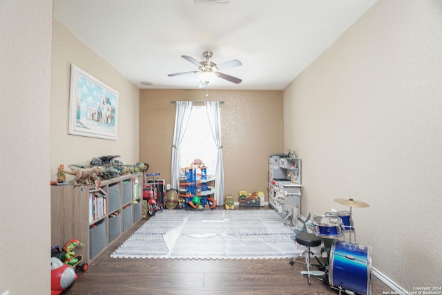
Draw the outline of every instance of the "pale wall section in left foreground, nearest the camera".
[[[48,294],[52,0],[1,1],[0,23],[0,294]]]

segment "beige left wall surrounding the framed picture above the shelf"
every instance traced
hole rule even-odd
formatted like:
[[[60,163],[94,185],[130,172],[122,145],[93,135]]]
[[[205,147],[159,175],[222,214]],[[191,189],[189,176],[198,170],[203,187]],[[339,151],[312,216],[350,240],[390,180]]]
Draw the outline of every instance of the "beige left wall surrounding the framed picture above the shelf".
[[[68,135],[70,64],[75,64],[119,93],[117,140]],[[90,164],[93,157],[121,155],[124,164],[138,161],[140,91],[59,21],[52,35],[51,179],[59,164]],[[72,178],[72,177],[70,177]]]

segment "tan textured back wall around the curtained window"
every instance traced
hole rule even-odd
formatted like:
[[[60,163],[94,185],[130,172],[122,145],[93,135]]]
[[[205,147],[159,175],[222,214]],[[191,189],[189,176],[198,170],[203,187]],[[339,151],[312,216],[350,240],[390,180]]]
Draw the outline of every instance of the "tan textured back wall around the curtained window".
[[[140,91],[140,160],[148,172],[171,181],[171,146],[175,122],[172,100],[204,100],[205,90]],[[267,200],[267,158],[282,153],[282,91],[209,89],[207,100],[224,101],[220,120],[226,196],[238,191],[264,191]],[[204,159],[202,159],[204,162]]]

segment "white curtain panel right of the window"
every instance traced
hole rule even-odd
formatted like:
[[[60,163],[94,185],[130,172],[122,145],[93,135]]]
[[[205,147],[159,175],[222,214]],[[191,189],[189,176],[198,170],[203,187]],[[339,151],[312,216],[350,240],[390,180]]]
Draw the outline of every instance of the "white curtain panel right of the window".
[[[218,148],[216,156],[215,171],[215,198],[216,204],[224,204],[224,166],[222,164],[222,144],[221,144],[221,121],[220,121],[220,102],[205,102],[206,113],[209,117],[213,140]]]

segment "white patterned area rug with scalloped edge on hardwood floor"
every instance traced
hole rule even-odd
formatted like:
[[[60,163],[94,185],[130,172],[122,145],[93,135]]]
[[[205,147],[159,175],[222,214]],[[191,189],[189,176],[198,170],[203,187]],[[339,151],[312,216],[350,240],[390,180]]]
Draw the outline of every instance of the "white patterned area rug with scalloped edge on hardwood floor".
[[[164,210],[146,221],[113,258],[293,258],[304,247],[273,210]]]

